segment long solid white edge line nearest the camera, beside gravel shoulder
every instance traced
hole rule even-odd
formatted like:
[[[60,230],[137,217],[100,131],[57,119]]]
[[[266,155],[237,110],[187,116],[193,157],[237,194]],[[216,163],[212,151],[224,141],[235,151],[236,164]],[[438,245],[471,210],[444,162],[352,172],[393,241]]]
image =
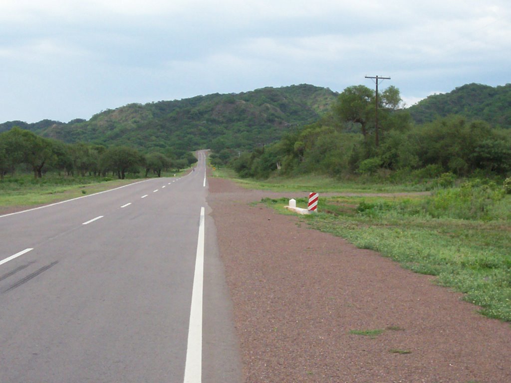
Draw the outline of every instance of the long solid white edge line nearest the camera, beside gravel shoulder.
[[[197,256],[188,328],[187,359],[184,364],[184,383],[202,381],[202,282],[204,275],[204,207],[200,208]]]

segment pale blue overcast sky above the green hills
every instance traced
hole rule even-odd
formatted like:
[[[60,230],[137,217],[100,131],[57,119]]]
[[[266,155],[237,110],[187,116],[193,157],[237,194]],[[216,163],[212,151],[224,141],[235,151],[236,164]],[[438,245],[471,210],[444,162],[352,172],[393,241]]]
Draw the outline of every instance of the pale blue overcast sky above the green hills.
[[[366,75],[412,105],[510,73],[509,0],[0,0],[0,123]]]

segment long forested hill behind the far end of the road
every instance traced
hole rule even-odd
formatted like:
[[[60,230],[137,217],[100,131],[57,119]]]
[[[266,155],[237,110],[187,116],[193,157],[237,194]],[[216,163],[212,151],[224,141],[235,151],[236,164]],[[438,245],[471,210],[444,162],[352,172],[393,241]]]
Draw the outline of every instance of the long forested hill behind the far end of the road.
[[[66,124],[14,121],[13,126],[65,142],[126,145],[143,150],[252,149],[273,142],[292,126],[317,121],[337,93],[301,84],[237,94],[210,94],[176,101],[129,104]]]

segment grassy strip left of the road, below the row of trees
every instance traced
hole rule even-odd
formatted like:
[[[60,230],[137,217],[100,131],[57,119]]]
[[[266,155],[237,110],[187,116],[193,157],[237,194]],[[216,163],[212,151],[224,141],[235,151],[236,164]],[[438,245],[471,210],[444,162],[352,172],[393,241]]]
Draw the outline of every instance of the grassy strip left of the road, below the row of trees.
[[[182,172],[162,173],[162,177],[173,177]],[[90,195],[104,190],[113,189],[143,178],[119,180],[112,177],[67,177],[57,174],[46,174],[35,179],[31,174],[6,176],[0,181],[0,215],[20,209],[29,209],[39,205],[64,201]]]

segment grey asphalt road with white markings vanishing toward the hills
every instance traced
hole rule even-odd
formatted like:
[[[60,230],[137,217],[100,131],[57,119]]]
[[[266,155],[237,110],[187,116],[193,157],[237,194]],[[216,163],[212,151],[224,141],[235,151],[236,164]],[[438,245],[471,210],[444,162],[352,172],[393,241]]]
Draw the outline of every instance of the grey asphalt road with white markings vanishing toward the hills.
[[[0,216],[0,382],[241,381],[198,158]]]

